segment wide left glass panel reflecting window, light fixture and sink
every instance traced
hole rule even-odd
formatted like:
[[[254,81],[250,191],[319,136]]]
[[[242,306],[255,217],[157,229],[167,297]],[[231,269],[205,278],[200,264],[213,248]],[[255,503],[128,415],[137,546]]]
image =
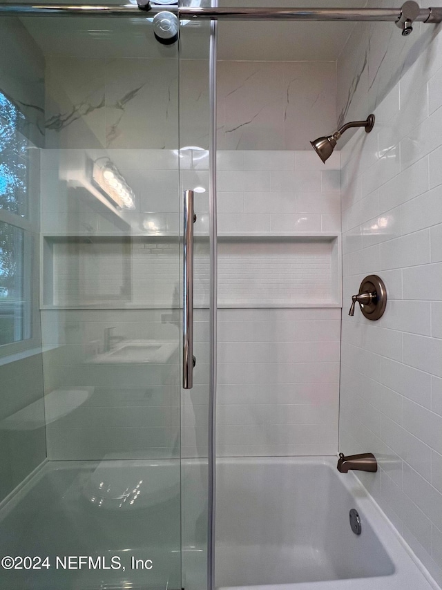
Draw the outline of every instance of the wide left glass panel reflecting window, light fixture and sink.
[[[0,26],[12,56],[2,58],[1,131],[15,109],[13,132],[26,139],[23,153],[1,157],[40,209],[31,225],[3,204],[0,231],[12,227],[16,283],[28,285],[32,321],[41,317],[41,340],[38,322],[17,312],[0,346],[12,381],[28,371],[26,399],[4,397],[1,408],[2,462],[20,473],[1,499],[21,493],[0,513],[0,553],[41,563],[1,569],[0,585],[179,590],[177,45],[158,44],[140,17],[1,17]],[[38,231],[31,259],[23,236]],[[28,357],[31,368],[20,365]],[[14,449],[27,441],[36,448],[25,468]]]

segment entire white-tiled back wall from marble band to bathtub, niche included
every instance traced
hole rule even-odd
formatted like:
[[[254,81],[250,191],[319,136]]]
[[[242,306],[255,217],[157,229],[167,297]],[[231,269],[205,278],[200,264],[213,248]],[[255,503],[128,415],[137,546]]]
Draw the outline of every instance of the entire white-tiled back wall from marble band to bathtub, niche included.
[[[52,258],[45,258],[54,271],[50,304],[90,305],[95,298],[111,307],[148,308],[42,312],[47,400],[51,392],[60,399],[66,391],[88,392],[81,406],[68,414],[60,410],[48,424],[48,457],[177,457],[177,352],[166,365],[147,369],[142,365],[104,367],[89,361],[102,353],[107,327],[115,328],[113,335],[131,341],[178,339],[178,213],[174,211],[180,193],[172,190],[178,155],[166,150],[106,152],[135,189],[136,209],[124,214],[128,226],[120,226],[93,211],[69,180],[73,162],[84,158],[81,151],[45,152],[44,233],[87,233],[92,242],[55,242]],[[89,158],[102,155],[104,151],[88,151]],[[182,392],[182,454],[200,457],[206,454],[209,374],[209,325],[204,309],[209,295],[208,158],[204,151],[181,155],[182,187],[206,189],[195,195],[198,362],[193,390]],[[220,151],[218,161],[218,229],[224,234],[219,244],[219,304],[228,306],[219,316],[219,453],[334,454],[340,348],[340,155],[335,153],[326,166],[316,154],[299,151]],[[165,182],[167,190],[162,190]],[[157,238],[155,245],[155,233],[163,232],[169,237]],[[301,237],[285,237],[296,232]],[[141,237],[128,247],[124,240],[131,233]],[[115,238],[100,242],[103,236]],[[88,254],[91,249],[93,256]],[[66,280],[72,265],[77,265],[76,285]],[[118,299],[125,280],[131,288],[126,289],[126,299]]]

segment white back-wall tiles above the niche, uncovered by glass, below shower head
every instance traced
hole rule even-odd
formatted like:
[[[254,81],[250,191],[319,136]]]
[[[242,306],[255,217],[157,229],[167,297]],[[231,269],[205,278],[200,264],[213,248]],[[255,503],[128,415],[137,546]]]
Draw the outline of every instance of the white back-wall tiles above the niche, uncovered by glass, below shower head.
[[[218,231],[340,233],[340,154],[218,152]]]

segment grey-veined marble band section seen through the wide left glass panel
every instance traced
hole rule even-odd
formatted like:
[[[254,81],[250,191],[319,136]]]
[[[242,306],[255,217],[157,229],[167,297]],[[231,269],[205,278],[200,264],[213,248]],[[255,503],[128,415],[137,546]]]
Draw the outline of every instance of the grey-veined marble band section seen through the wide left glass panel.
[[[177,111],[176,59],[48,57],[46,147],[173,149]]]

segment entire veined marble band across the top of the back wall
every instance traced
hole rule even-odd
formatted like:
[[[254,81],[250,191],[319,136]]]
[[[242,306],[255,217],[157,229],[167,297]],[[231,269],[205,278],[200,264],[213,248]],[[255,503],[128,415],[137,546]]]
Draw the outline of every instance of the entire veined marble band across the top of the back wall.
[[[153,83],[155,81],[155,84]],[[180,144],[207,148],[207,60],[180,61]],[[334,129],[334,61],[220,61],[218,149],[304,150]],[[46,147],[176,149],[176,59],[46,59]]]

